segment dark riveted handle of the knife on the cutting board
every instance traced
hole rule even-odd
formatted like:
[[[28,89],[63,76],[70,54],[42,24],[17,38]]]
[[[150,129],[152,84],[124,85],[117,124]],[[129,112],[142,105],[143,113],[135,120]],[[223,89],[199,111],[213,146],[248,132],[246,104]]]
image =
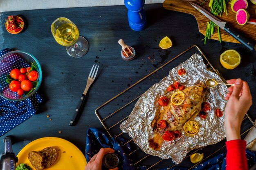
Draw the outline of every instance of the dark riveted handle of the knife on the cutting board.
[[[246,48],[253,51],[255,47],[255,42],[252,40],[249,40],[245,36],[243,36],[241,33],[234,31],[230,28],[230,26],[226,23],[224,27],[224,31],[229,33],[232,37],[234,37],[237,41],[239,41],[241,44],[243,44]]]

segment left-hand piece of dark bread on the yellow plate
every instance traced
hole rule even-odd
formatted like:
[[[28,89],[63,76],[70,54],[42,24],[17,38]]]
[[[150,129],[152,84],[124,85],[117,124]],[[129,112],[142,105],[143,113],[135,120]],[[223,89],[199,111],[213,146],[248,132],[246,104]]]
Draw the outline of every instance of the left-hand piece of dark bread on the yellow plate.
[[[40,152],[31,151],[29,152],[28,159],[31,165],[36,168],[36,170],[43,170],[45,167],[45,155]]]

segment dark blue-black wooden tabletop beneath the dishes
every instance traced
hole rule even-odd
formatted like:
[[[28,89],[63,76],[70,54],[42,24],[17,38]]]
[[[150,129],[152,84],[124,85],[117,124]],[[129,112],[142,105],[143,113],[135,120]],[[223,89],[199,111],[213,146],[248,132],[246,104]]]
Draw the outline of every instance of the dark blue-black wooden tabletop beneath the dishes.
[[[129,27],[127,9],[124,6],[0,13],[0,47],[23,50],[38,59],[43,70],[43,82],[39,92],[44,99],[34,116],[2,135],[0,141],[7,135],[13,135],[15,137],[13,152],[17,155],[26,144],[35,139],[61,137],[75,144],[85,154],[88,128],[104,130],[94,110],[194,44],[202,49],[211,64],[225,79],[242,78],[247,81],[255,101],[255,51],[250,52],[241,44],[219,43],[215,40],[207,40],[204,45],[202,41],[204,35],[199,33],[197,22],[192,15],[168,11],[162,7],[162,4],[146,4],[144,9],[147,26],[143,31],[133,31]],[[3,24],[8,15],[19,15],[24,19],[25,28],[21,33],[17,35],[7,33]],[[54,40],[50,26],[58,17],[72,20],[79,28],[79,34],[88,40],[90,47],[84,57],[79,59],[69,57],[65,47]],[[165,36],[172,39],[173,47],[162,50],[158,44]],[[119,39],[124,39],[126,44],[135,48],[134,60],[124,61],[121,58],[121,46],[117,42]],[[235,49],[241,55],[241,63],[234,70],[227,70],[220,64],[220,54],[227,49]],[[182,61],[184,58],[173,61],[171,68]],[[99,65],[97,79],[86,96],[79,121],[75,126],[69,126],[93,64]],[[139,90],[133,90],[125,100],[119,100],[113,105],[116,107],[128,102],[135,94],[145,92],[167,74],[168,72],[151,78],[143,83]],[[132,107],[125,113],[126,116],[129,115]],[[256,106],[253,105],[248,112],[252,120],[256,118],[255,110]],[[106,111],[103,114],[109,113]],[[118,114],[113,119],[117,121],[125,114]],[[47,115],[50,117],[47,118]],[[0,150],[4,152],[3,143],[0,144]],[[209,150],[212,150],[212,147],[209,147]],[[162,166],[171,164],[171,161],[166,161]],[[183,163],[182,166],[191,166],[191,164]]]

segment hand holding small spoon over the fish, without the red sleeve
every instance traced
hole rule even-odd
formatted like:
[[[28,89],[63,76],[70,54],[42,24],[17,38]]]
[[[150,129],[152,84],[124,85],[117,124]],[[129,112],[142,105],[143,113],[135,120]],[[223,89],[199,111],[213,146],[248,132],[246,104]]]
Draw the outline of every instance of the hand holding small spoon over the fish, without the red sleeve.
[[[240,139],[240,126],[245,113],[252,106],[252,95],[247,82],[240,78],[228,80],[227,83],[235,84],[228,88],[225,97],[228,100],[225,107],[225,133],[227,141]]]

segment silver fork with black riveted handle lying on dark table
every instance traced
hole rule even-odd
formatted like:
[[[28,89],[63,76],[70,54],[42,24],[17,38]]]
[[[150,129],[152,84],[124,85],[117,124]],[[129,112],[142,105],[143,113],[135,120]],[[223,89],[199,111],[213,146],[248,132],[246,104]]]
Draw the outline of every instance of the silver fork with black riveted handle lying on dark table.
[[[96,70],[96,68],[97,68],[97,70]],[[70,120],[70,126],[72,126],[72,124],[74,123],[74,121],[76,119],[76,116],[78,115],[79,111],[81,110],[81,107],[82,107],[84,99],[85,99],[85,95],[88,92],[89,87],[92,85],[93,81],[95,80],[98,69],[99,69],[99,65],[95,65],[95,67],[94,67],[94,65],[92,66],[91,72],[90,72],[90,74],[88,76],[88,79],[87,79],[87,84],[86,84],[85,90],[84,90],[80,100],[78,101],[78,103],[76,105],[76,109],[75,109],[75,111],[73,113],[73,116]],[[96,70],[96,72],[95,72],[95,70]]]

